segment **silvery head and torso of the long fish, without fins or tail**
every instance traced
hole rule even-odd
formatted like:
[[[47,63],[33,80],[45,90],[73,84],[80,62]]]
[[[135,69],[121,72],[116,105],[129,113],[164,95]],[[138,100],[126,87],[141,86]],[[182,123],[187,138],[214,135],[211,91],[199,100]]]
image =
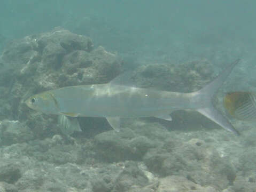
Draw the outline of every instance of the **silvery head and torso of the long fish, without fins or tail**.
[[[191,95],[112,84],[68,86],[34,95],[27,105],[46,114],[88,117],[149,117],[193,109]],[[39,104],[39,103],[38,103]],[[39,108],[37,108],[39,107]]]

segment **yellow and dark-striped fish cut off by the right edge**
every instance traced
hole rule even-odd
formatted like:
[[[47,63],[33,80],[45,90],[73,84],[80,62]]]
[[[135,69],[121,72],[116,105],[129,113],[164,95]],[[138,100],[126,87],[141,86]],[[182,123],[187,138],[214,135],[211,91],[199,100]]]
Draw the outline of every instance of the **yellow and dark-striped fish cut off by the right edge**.
[[[251,92],[229,92],[223,99],[228,113],[244,121],[256,121],[255,94]]]

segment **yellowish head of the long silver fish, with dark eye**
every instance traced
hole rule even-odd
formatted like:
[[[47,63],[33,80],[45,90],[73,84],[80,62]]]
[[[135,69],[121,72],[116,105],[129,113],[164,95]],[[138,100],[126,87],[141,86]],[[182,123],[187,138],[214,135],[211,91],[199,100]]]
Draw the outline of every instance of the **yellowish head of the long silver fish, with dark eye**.
[[[58,114],[58,102],[51,91],[35,94],[25,101],[29,108],[45,114]]]

